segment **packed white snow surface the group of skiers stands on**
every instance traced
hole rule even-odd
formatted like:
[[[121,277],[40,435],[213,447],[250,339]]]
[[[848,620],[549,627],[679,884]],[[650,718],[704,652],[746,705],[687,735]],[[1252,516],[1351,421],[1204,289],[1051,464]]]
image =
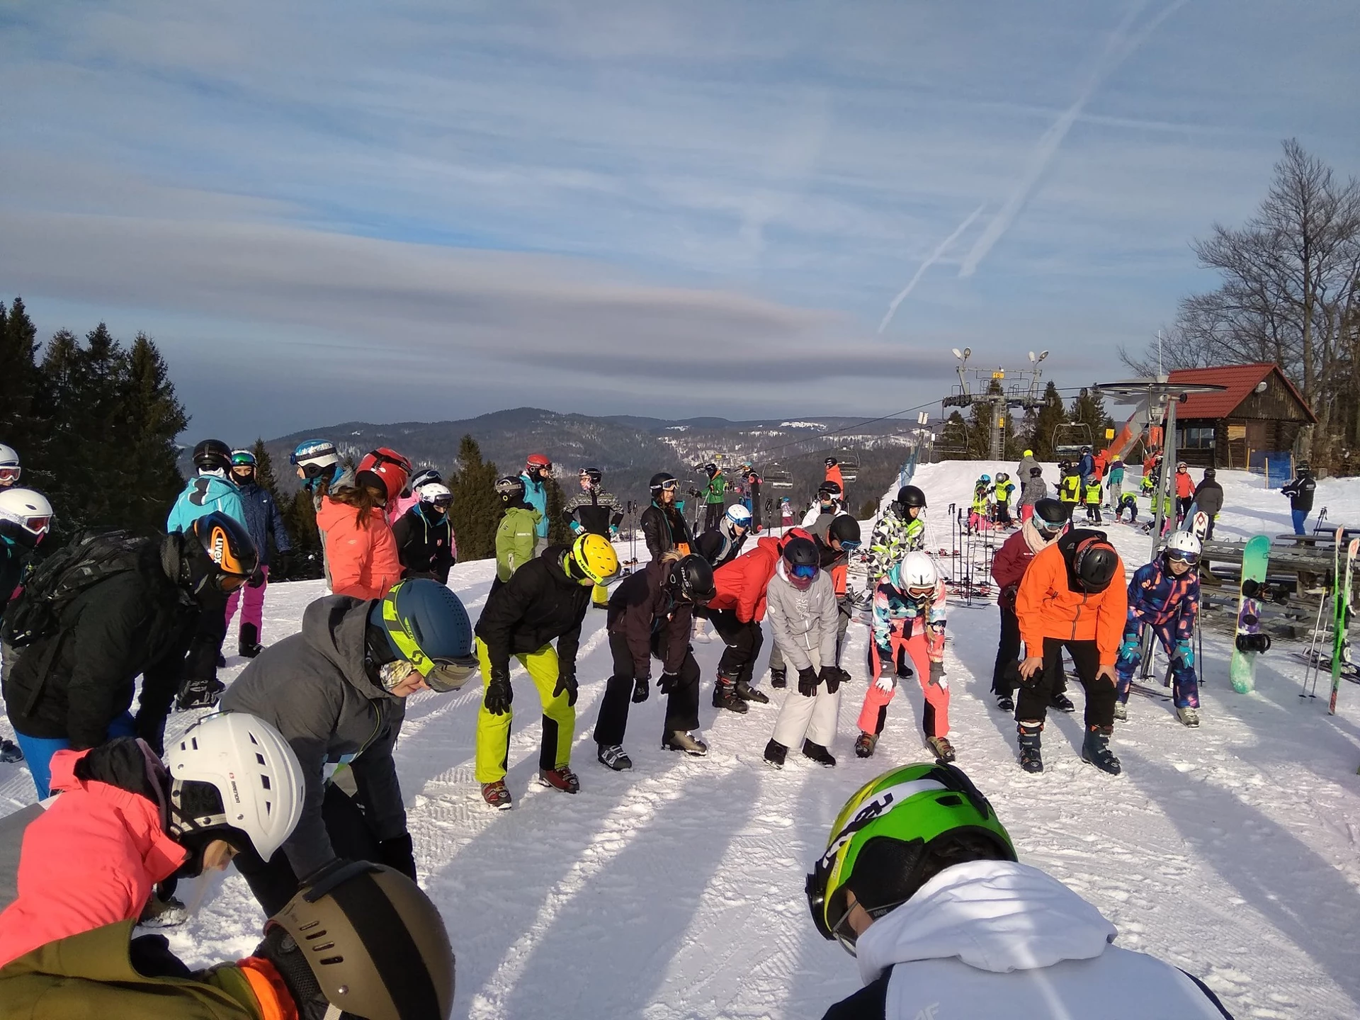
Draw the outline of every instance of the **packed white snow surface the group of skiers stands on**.
[[[978,473],[998,469],[1015,471],[952,462],[917,472],[932,551],[951,547],[948,505],[966,506]],[[1051,486],[1051,465],[1046,473]],[[1219,477],[1227,495],[1219,537],[1289,529],[1288,500],[1259,477]],[[1322,506],[1330,521],[1360,525],[1360,483],[1321,483]],[[1108,530],[1130,570],[1146,562],[1148,536],[1127,525]],[[490,562],[454,568],[450,583],[473,617],[491,577]],[[272,585],[265,642],[295,631],[322,593],[320,582]],[[411,699],[397,764],[422,881],[458,955],[454,1015],[820,1017],[858,979],[853,960],[813,929],[804,874],[861,783],[926,759],[919,688],[913,680],[900,688],[877,755],[854,758],[866,639],[854,624],[843,664],[855,683],[842,688],[832,747],[839,766],[813,766],[794,751],[772,771],[762,751],[790,695],[772,692],[771,704],[745,717],[719,714],[710,691],[721,646],[696,643],[711,753],[662,751],[653,695],[632,706],[634,768],[615,774],[596,763],[590,738],[611,670],[602,628],[604,613],[592,612],[578,669],[579,796],[533,782],[539,714],[518,668],[511,812],[484,806],[473,781],[480,687]],[[1167,702],[1134,696],[1112,741],[1125,774],[1111,778],[1078,759],[1080,715],[1051,714],[1046,771],[1031,777],[1016,764],[1013,721],[989,696],[996,607],[951,604],[949,634],[959,764],[991,797],[1023,861],[1093,902],[1119,929],[1119,945],[1202,978],[1238,1017],[1360,1016],[1360,688],[1344,683],[1329,717],[1325,698],[1299,698],[1303,664],[1278,642],[1259,662],[1257,692],[1236,695],[1229,641],[1209,632],[1200,729],[1180,726]],[[224,679],[242,665],[230,658]],[[1080,687],[1072,695],[1080,713]],[[188,721],[173,717],[171,730]],[[7,722],[0,732],[8,734]],[[23,766],[0,764],[0,813],[33,796]],[[231,874],[170,933],[171,945],[193,964],[233,959],[252,951],[261,922]]]

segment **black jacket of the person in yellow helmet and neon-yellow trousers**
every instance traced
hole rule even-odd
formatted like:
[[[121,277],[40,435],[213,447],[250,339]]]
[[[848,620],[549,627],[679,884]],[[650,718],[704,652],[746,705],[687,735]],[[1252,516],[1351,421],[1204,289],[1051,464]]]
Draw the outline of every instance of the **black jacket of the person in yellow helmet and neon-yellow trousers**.
[[[592,586],[567,577],[562,568],[566,555],[563,547],[549,545],[487,598],[473,632],[487,646],[492,675],[510,670],[510,656],[537,651],[552,641],[558,642],[559,673],[577,675],[581,622],[590,607]]]

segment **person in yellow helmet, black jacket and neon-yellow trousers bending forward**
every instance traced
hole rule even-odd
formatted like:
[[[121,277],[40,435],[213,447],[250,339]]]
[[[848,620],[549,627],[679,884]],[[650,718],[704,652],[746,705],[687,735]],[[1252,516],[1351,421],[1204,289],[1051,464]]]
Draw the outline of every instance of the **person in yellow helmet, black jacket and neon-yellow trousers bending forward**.
[[[476,777],[483,800],[492,808],[511,806],[505,785],[514,698],[511,656],[529,672],[543,703],[539,779],[544,786],[579,793],[581,781],[571,771],[571,740],[581,622],[590,604],[589,589],[617,573],[613,545],[598,534],[582,534],[571,548],[549,545],[487,600],[476,627],[486,685],[477,714]]]

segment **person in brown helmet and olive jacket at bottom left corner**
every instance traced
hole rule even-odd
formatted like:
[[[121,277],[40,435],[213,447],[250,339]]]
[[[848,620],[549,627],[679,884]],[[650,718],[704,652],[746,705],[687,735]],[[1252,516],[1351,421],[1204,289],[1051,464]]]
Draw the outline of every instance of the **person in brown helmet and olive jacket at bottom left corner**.
[[[439,911],[413,881],[378,865],[337,864],[314,876],[265,923],[252,956],[201,971],[158,936],[132,938],[133,923],[68,936],[0,968],[5,1016],[314,1020],[453,1009],[453,949]],[[318,932],[325,941],[309,941]]]

